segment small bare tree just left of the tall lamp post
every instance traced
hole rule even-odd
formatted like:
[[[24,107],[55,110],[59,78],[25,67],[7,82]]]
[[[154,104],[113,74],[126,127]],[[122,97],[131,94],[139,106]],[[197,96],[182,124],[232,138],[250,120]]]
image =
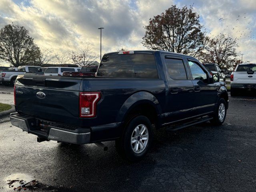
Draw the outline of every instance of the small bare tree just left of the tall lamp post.
[[[99,56],[92,51],[90,44],[86,44],[83,48],[78,51],[72,51],[71,59],[74,64],[79,66],[85,66],[90,62],[95,61]]]

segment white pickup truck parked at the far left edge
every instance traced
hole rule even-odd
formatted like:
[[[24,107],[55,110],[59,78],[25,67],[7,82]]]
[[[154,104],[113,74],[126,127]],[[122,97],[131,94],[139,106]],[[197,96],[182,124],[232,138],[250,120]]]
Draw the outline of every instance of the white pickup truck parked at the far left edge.
[[[25,72],[38,72],[40,68],[39,66],[19,66],[17,71],[2,70],[0,71],[0,82],[14,85],[18,75],[24,75]]]

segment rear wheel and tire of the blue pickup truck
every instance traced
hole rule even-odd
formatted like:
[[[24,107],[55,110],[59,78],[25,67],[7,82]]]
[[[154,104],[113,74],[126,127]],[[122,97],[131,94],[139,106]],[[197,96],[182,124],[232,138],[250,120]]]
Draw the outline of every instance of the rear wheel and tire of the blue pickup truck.
[[[141,137],[141,132],[144,137]],[[125,160],[137,162],[144,158],[152,141],[153,132],[150,120],[146,116],[136,116],[128,122],[122,137],[116,140],[116,150]]]

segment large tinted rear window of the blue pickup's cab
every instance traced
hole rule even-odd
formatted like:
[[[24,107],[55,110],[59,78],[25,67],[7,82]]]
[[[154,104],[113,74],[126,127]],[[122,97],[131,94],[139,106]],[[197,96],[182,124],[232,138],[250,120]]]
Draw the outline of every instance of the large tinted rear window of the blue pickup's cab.
[[[120,54],[103,56],[97,76],[116,78],[158,78],[152,54]]]

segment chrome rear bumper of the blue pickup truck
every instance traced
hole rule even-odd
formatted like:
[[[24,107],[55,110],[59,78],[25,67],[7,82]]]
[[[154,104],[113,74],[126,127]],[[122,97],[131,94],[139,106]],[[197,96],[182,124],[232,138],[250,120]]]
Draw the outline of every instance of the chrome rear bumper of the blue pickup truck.
[[[90,132],[76,133],[68,130],[60,130],[57,128],[49,127],[49,134],[31,129],[35,125],[34,118],[28,116],[20,116],[18,113],[10,114],[10,121],[13,126],[21,128],[23,131],[35,134],[39,137],[47,138],[48,140],[55,140],[60,142],[67,142],[73,144],[87,144],[90,143]]]

